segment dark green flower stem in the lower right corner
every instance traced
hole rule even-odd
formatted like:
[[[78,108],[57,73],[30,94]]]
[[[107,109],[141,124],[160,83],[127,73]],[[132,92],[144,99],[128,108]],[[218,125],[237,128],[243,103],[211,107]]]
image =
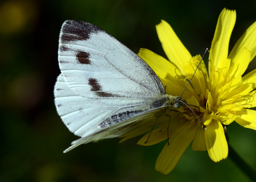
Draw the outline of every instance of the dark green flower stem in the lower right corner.
[[[227,141],[228,137],[226,135]],[[232,160],[236,166],[244,172],[244,174],[247,175],[248,178],[250,178],[252,181],[256,181],[256,171],[249,166],[233,149],[233,147],[230,146],[228,142],[228,158]]]

